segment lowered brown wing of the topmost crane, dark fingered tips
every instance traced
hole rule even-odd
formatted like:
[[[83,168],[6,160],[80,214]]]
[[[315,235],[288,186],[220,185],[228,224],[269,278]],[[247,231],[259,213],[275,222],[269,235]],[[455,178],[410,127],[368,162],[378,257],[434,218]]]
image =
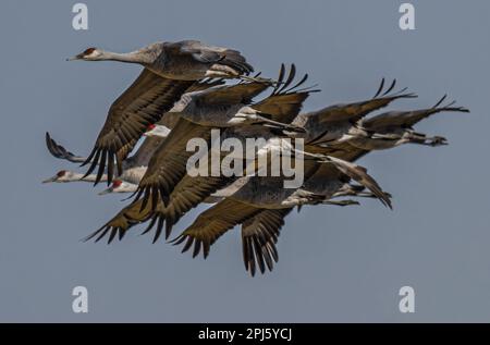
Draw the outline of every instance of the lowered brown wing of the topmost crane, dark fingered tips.
[[[97,165],[96,184],[107,167],[108,184],[114,176],[114,160],[118,173],[122,162],[132,151],[148,125],[161,119],[173,107],[185,90],[193,85],[189,81],[163,78],[149,70],[143,70],[137,79],[111,106],[94,149],[84,162],[91,163],[86,175]]]

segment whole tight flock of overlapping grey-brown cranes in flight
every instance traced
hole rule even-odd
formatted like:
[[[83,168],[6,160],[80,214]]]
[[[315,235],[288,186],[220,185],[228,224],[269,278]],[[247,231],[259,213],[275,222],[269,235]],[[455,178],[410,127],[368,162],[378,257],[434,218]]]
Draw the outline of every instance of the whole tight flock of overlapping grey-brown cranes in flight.
[[[304,86],[308,75],[296,78],[294,64],[281,65],[275,79],[250,76],[254,69],[238,51],[195,40],[156,42],[130,53],[89,48],[69,60],[144,66],[110,107],[88,157],[70,152],[46,134],[52,156],[88,169],[62,170],[45,183],[107,182],[109,187],[99,194],[130,194],[128,205],[86,239],[107,237],[111,243],[140,223],[147,224],[144,233],[154,230],[154,243],[162,233],[169,238],[179,220],[205,202],[209,208],[170,242],[206,258],[221,235],[241,225],[243,259],[252,275],[272,270],[284,219],[296,207],[358,205],[356,198],[367,197],[391,208],[391,195],[355,161],[403,144],[446,145],[444,137],[418,133],[414,125],[439,112],[468,112],[446,103],[444,96],[431,108],[370,115],[395,100],[417,97],[384,79],[372,98],[302,112],[318,89]],[[285,188],[284,175],[188,174],[194,153],[187,150],[188,140],[210,143],[213,128],[242,143],[265,138],[256,159],[273,152],[301,157],[303,184]],[[291,147],[286,152],[284,139],[298,138],[304,143],[301,152]]]

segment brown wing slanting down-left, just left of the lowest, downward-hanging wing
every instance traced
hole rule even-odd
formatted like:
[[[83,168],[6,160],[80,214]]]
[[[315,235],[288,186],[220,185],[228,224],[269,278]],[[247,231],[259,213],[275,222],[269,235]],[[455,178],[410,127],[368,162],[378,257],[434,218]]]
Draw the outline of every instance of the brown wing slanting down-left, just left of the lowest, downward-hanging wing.
[[[187,251],[194,244],[193,257],[199,255],[203,248],[203,256],[207,258],[210,246],[221,235],[254,217],[259,211],[259,208],[252,205],[226,198],[200,213],[194,223],[173,239],[172,243],[179,245],[186,241],[182,252]]]

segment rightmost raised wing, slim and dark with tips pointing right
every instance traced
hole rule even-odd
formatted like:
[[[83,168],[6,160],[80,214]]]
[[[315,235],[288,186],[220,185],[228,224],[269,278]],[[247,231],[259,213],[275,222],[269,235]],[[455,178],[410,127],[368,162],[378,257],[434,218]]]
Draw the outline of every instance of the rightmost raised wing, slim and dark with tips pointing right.
[[[413,111],[390,111],[370,119],[366,119],[363,122],[363,126],[373,132],[383,131],[396,126],[412,127],[417,122],[440,112],[469,112],[469,110],[464,107],[453,107],[455,103],[454,101],[449,103],[448,106],[440,107],[445,98],[446,96],[439,100],[439,102],[434,107],[429,109]]]

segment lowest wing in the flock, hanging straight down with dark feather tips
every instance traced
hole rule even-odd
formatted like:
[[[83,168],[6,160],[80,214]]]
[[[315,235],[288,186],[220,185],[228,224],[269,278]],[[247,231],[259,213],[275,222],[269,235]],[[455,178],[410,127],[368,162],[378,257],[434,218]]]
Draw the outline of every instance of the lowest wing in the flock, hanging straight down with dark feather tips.
[[[265,273],[266,266],[272,271],[273,262],[278,262],[275,244],[284,225],[284,218],[292,210],[292,208],[262,209],[242,224],[243,261],[252,276],[255,275],[256,267]]]

